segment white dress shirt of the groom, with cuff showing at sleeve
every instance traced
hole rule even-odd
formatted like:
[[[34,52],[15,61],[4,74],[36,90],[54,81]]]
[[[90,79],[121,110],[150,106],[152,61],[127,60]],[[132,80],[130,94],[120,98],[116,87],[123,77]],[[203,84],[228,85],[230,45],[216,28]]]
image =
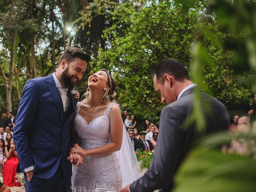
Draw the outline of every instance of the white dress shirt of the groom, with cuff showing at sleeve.
[[[60,93],[62,104],[63,104],[63,109],[64,109],[64,111],[66,111],[66,109],[68,108],[68,102],[69,102],[68,88],[62,87],[60,81],[56,77],[55,72],[52,74],[52,76],[53,76],[54,82],[56,84],[56,87],[58,89],[58,92]],[[24,169],[25,172],[28,172],[28,171],[31,171],[31,170],[34,170],[34,166],[33,165]]]

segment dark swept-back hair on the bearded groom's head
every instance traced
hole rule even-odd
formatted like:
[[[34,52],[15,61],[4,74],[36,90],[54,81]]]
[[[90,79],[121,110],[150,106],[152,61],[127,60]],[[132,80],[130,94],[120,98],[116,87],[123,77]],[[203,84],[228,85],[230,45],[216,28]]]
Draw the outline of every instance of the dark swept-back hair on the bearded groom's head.
[[[60,57],[59,66],[62,60],[66,60],[66,62],[70,64],[75,60],[76,57],[86,61],[87,63],[91,60],[91,56],[88,55],[86,52],[82,51],[81,49],[77,47],[68,47]]]

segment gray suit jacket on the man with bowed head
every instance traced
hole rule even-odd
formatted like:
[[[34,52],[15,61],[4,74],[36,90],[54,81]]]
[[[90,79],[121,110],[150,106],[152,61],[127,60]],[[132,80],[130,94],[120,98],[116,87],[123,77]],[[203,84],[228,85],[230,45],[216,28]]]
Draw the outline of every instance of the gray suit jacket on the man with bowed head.
[[[202,91],[198,86],[186,90],[181,97],[164,107],[160,115],[159,135],[152,164],[148,171],[132,182],[131,192],[170,192],[176,170],[191,147],[192,140],[199,135],[195,124],[185,128],[184,122],[192,112],[193,97],[200,94],[200,104],[206,118],[205,133],[228,130],[229,115],[226,107],[216,98]],[[210,105],[210,111],[204,109]]]

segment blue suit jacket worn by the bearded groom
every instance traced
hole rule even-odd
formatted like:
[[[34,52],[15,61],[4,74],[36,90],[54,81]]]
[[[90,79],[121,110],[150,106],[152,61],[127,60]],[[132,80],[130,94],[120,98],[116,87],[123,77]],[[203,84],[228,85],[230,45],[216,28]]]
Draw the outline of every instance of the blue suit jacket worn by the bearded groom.
[[[34,176],[47,179],[54,175],[61,161],[65,179],[71,177],[72,164],[67,157],[72,146],[70,124],[76,103],[70,92],[69,98],[69,110],[64,118],[52,74],[25,84],[13,133],[20,169],[34,166]]]

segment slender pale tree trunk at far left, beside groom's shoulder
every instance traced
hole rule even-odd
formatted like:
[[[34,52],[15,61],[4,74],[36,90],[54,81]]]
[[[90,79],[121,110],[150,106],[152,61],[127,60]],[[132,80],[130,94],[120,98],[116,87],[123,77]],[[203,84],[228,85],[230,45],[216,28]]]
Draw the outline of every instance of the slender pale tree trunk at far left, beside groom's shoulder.
[[[9,113],[12,111],[12,80],[14,75],[14,52],[15,52],[15,44],[16,44],[17,34],[14,32],[13,36],[11,36],[11,58],[10,58],[10,69],[9,69],[9,77],[8,84],[6,87],[6,112]]]

